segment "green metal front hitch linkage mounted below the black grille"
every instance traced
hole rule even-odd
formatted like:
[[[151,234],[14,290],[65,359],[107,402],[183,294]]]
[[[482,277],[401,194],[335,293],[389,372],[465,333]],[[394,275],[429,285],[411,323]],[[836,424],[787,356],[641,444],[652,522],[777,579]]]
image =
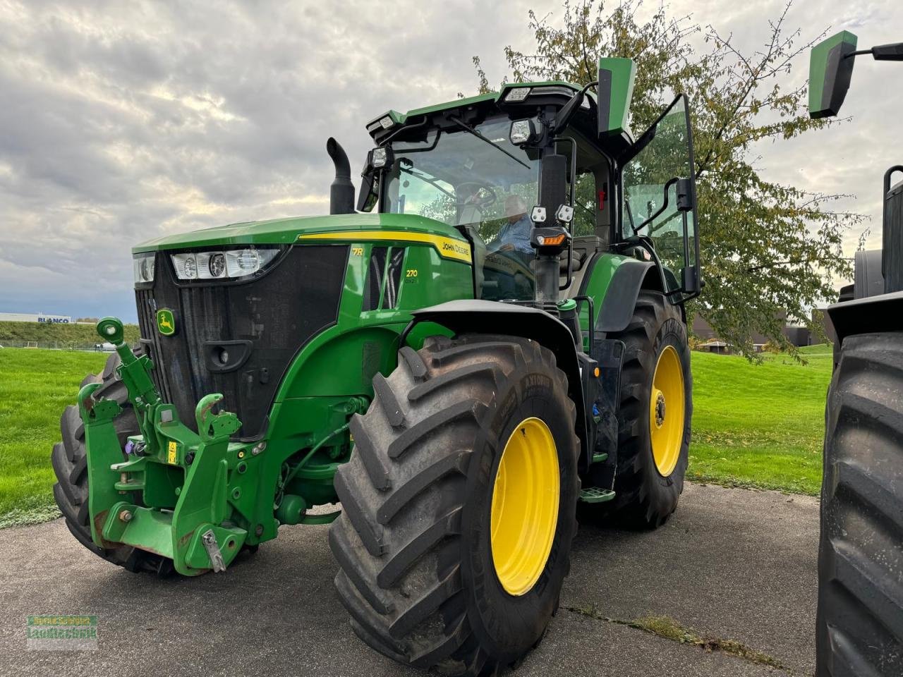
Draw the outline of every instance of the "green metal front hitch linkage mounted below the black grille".
[[[255,500],[241,481],[251,462],[246,445],[229,442],[241,422],[234,413],[214,413],[223,396],[208,394],[195,408],[198,432],[191,431],[175,407],[163,403],[150,358],[135,356],[124,342],[122,322],[100,320],[98,334],[121,358],[116,371],[141,435],[129,438],[124,457],[114,426],[122,406],[96,399],[101,384],[82,387],[92,540],[101,548],[126,544],[168,557],[186,576],[225,570],[247,539],[235,514],[249,515]],[[138,491],[143,505],[137,504]]]

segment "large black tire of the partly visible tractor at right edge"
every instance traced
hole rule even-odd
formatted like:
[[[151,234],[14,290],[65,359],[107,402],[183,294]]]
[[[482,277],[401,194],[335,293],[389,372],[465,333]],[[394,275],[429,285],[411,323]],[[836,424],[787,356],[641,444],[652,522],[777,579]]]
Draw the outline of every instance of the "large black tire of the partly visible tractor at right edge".
[[[843,339],[825,408],[816,674],[903,674],[903,333]]]

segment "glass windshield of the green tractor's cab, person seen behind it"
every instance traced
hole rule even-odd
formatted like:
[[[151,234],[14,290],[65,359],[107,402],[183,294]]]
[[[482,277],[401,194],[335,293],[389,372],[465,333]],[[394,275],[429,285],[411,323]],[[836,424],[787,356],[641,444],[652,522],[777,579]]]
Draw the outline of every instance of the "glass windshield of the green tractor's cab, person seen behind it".
[[[483,299],[533,298],[527,212],[536,203],[540,162],[510,142],[510,126],[499,116],[473,127],[484,138],[430,129],[416,141],[393,142],[395,162],[385,177],[382,211],[434,218],[470,236]]]

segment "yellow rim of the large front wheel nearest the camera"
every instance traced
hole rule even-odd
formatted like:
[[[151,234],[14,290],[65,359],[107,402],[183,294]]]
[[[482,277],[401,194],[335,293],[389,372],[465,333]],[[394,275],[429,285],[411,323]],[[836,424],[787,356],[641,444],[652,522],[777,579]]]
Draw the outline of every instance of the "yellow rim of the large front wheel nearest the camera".
[[[549,559],[558,524],[558,451],[537,418],[517,425],[498,461],[492,487],[492,562],[510,595],[533,588]]]

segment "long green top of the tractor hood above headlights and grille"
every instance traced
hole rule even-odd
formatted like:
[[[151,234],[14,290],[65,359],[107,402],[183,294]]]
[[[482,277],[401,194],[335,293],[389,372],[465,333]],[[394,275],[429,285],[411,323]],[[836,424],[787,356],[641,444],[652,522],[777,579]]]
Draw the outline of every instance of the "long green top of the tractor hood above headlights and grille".
[[[132,248],[133,254],[173,249],[190,249],[202,246],[228,245],[290,245],[303,239],[330,239],[341,241],[348,233],[349,241],[361,230],[404,231],[412,239],[467,241],[454,227],[414,214],[338,214],[321,217],[275,218],[269,221],[249,221],[229,226],[195,230],[191,233],[168,235],[148,240]],[[323,235],[323,238],[317,238]],[[470,251],[470,247],[467,247]]]

